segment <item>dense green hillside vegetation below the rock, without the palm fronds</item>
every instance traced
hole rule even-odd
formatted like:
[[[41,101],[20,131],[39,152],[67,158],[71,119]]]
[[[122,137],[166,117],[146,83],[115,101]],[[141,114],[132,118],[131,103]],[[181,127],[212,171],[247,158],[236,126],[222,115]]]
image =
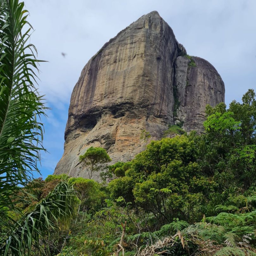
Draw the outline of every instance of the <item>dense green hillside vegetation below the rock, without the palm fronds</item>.
[[[107,185],[65,174],[30,182],[25,213],[59,182],[76,191],[70,224],[40,238],[47,255],[256,255],[255,93],[206,115],[204,134],[152,141],[110,166]]]

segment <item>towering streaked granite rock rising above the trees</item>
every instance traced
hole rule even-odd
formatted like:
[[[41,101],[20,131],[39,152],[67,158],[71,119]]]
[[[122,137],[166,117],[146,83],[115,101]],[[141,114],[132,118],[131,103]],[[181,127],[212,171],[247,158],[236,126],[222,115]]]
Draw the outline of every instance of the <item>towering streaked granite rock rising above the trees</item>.
[[[85,177],[79,155],[90,146],[107,149],[113,162],[131,160],[145,147],[143,129],[152,139],[179,121],[186,131],[201,131],[206,104],[224,101],[224,91],[215,68],[186,55],[158,12],[143,15],[83,68],[54,173]]]

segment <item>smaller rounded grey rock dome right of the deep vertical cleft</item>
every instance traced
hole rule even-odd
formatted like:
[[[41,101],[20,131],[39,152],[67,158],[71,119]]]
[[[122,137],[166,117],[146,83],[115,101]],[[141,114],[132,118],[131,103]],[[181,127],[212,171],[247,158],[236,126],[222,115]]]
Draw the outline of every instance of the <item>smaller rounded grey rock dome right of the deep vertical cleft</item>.
[[[176,122],[186,131],[203,131],[205,107],[224,102],[225,87],[217,70],[206,60],[179,56],[175,62],[175,86],[179,107]]]

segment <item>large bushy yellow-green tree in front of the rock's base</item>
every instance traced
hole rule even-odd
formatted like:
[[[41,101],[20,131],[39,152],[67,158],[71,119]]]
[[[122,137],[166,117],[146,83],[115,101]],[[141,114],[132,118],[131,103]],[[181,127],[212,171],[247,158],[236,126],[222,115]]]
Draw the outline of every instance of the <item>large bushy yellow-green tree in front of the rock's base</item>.
[[[174,216],[200,215],[198,208],[214,183],[200,175],[196,152],[187,136],[151,142],[130,163],[124,177],[109,183],[111,197],[123,197],[151,212],[159,224]],[[206,192],[207,191],[207,192]]]

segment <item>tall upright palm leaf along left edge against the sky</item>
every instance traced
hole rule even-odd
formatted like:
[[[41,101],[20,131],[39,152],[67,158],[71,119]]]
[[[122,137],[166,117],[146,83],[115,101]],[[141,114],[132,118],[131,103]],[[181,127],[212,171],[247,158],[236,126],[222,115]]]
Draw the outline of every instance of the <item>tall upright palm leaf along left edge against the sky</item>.
[[[39,61],[27,43],[32,27],[23,7],[18,0],[0,0],[0,214],[14,207],[13,195],[39,172],[44,150],[40,115],[46,107],[34,85]]]

